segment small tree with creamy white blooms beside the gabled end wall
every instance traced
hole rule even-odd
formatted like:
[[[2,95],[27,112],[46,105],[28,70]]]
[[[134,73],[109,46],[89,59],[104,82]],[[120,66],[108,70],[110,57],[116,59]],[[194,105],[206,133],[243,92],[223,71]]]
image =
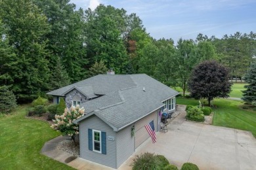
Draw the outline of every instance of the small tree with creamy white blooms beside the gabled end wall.
[[[70,136],[75,144],[75,135],[79,134],[79,129],[78,125],[73,122],[81,118],[84,114],[85,109],[83,109],[83,107],[79,108],[79,105],[76,107],[72,106],[70,109],[66,108],[64,114],[55,115],[55,120],[53,120],[54,124],[51,127],[60,131],[62,135]]]

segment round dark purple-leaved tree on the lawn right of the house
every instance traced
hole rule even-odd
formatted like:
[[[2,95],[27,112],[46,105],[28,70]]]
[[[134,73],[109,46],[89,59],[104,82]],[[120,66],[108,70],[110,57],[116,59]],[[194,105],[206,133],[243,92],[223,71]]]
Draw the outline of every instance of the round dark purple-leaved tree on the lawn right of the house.
[[[214,60],[203,61],[192,71],[188,90],[192,97],[207,99],[209,105],[213,98],[229,97],[228,69]]]

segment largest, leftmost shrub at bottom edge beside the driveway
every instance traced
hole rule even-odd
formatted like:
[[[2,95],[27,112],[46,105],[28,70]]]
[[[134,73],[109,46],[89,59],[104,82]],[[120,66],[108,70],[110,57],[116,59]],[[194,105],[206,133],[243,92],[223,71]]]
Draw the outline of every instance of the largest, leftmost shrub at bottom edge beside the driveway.
[[[161,169],[161,161],[156,159],[156,156],[151,153],[144,153],[135,156],[131,166],[133,170],[140,170],[140,169]]]

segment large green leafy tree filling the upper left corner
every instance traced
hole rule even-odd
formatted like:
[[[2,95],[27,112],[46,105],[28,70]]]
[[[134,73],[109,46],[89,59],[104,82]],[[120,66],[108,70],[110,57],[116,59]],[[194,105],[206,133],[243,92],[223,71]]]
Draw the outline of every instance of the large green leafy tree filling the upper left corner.
[[[14,48],[15,58],[9,75],[11,90],[19,101],[33,99],[49,89],[49,67],[46,59],[45,34],[49,31],[47,18],[32,0],[0,1],[0,18],[7,26],[9,45]]]

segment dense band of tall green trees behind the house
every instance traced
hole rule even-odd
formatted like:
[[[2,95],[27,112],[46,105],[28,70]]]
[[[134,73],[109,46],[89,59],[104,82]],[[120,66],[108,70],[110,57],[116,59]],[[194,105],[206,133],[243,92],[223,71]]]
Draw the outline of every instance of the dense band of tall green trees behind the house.
[[[18,102],[105,73],[146,73],[183,94],[198,63],[215,59],[230,78],[242,77],[256,56],[256,33],[218,39],[154,39],[137,14],[99,5],[75,10],[69,0],[0,1],[0,83]]]

